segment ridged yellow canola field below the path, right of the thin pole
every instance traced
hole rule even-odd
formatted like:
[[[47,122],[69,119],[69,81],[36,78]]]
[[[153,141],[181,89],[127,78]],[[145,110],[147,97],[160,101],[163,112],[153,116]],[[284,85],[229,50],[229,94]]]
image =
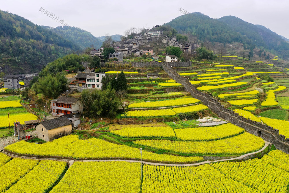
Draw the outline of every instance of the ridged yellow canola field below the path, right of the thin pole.
[[[142,192],[286,193],[288,160],[287,154],[273,150],[261,159],[240,162],[187,167],[144,165]]]

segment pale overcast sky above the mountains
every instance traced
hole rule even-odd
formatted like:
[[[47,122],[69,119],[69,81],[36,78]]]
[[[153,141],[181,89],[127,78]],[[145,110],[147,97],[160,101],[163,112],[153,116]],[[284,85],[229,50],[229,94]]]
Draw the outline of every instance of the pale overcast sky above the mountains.
[[[162,25],[181,15],[178,9],[201,12],[211,18],[234,15],[253,24],[264,25],[289,39],[287,0],[201,0],[201,1],[87,1],[87,0],[0,0],[0,9],[29,19],[34,24],[57,27],[60,19],[94,36],[124,34],[130,27]],[[44,8],[59,20],[41,13]]]

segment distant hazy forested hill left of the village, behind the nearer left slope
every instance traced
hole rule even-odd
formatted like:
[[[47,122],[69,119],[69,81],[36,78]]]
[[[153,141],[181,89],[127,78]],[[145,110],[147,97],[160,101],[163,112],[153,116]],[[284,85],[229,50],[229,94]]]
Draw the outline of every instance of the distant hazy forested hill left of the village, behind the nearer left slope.
[[[81,30],[78,27],[59,26],[56,28],[52,28],[52,27],[43,26],[43,25],[41,27],[47,30],[51,30],[52,32],[55,32],[59,36],[66,38],[67,40],[81,47],[81,49],[91,47],[91,45],[93,45],[95,49],[98,49],[101,47],[101,44],[103,42],[103,40],[96,38],[90,32]]]

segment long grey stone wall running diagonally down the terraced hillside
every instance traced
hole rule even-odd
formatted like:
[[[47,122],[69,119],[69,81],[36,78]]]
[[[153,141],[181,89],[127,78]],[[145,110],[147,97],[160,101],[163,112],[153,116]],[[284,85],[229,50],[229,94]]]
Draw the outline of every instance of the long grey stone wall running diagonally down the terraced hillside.
[[[168,75],[181,83],[185,89],[191,93],[192,97],[201,100],[206,106],[208,106],[214,113],[224,120],[231,122],[232,124],[244,128],[247,132],[259,136],[261,132],[262,139],[273,143],[274,146],[286,153],[289,153],[289,139],[285,140],[284,135],[279,135],[279,130],[274,129],[270,126],[262,125],[250,119],[243,118],[234,111],[224,108],[217,99],[212,98],[211,95],[207,93],[202,93],[196,90],[189,80],[180,77],[177,72],[175,72],[170,66],[163,65],[163,69],[168,73]]]

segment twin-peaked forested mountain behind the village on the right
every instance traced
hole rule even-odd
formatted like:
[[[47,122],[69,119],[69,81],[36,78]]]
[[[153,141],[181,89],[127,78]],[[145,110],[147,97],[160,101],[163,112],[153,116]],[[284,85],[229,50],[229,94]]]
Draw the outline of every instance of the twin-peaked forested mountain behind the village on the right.
[[[263,47],[282,58],[289,58],[289,43],[262,25],[253,25],[235,16],[212,19],[199,12],[179,16],[164,24],[179,33],[190,33],[201,41],[240,42],[246,49]]]

